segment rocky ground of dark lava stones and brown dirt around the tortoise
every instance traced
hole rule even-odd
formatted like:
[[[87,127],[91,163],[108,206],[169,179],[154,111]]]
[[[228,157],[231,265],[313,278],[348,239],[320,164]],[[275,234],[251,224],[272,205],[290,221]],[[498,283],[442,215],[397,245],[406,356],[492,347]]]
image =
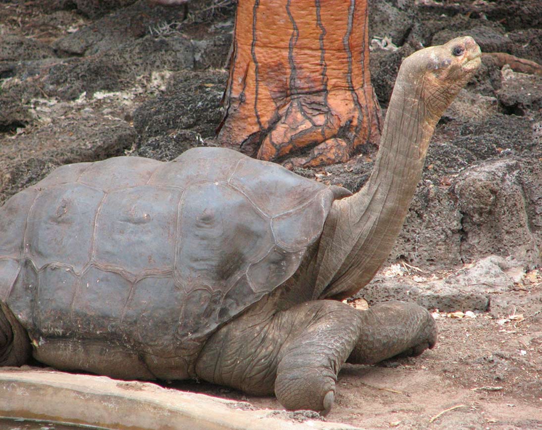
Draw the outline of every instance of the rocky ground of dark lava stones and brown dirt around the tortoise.
[[[488,55],[542,63],[542,4],[370,4],[383,108],[414,50],[469,34],[486,55],[437,127],[388,264],[353,302],[417,301],[434,311],[439,343],[417,358],[346,365],[326,419],[367,429],[542,428],[542,76]],[[64,163],[171,159],[213,145],[233,17],[228,0],[188,9],[0,0],[0,204]],[[354,191],[375,150],[298,173]],[[221,387],[175,386],[280,408]]]

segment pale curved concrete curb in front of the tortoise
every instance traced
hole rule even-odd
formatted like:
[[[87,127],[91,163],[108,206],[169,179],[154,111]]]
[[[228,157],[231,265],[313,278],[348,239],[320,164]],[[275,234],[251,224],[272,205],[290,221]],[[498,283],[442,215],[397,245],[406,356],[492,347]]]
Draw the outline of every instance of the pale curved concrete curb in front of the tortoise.
[[[0,370],[0,415],[91,425],[114,430],[346,430],[355,427],[289,421],[283,411],[243,410],[244,403],[167,389],[42,369]]]

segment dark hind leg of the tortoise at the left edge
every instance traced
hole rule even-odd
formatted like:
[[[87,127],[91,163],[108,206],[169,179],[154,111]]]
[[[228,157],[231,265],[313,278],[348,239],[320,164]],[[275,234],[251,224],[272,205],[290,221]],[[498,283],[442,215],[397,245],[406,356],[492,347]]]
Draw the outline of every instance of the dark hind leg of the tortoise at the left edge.
[[[0,303],[0,366],[21,366],[31,354],[30,339],[7,306]]]

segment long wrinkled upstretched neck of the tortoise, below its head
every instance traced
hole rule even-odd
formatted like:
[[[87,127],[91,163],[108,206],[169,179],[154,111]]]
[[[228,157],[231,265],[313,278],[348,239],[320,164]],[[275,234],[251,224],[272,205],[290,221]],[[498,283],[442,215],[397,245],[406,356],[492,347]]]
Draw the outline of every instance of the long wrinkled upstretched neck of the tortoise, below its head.
[[[317,249],[301,267],[298,281],[314,285],[313,299],[350,297],[369,283],[391,252],[442,114],[425,106],[421,80],[409,70],[399,72],[369,181],[333,203]]]

